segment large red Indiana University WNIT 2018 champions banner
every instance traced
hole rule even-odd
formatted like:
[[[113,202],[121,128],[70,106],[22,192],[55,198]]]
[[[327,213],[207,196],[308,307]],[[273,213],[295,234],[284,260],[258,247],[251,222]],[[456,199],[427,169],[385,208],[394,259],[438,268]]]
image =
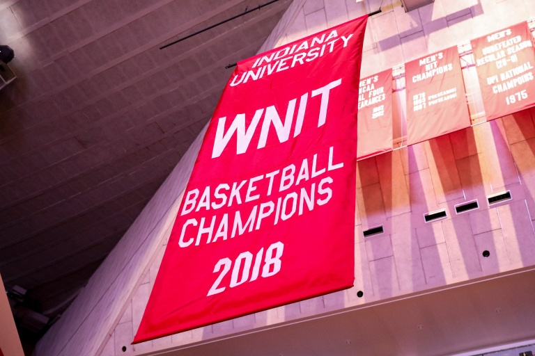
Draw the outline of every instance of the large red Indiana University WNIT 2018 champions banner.
[[[353,285],[367,19],[238,63],[134,343]]]

